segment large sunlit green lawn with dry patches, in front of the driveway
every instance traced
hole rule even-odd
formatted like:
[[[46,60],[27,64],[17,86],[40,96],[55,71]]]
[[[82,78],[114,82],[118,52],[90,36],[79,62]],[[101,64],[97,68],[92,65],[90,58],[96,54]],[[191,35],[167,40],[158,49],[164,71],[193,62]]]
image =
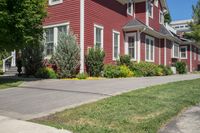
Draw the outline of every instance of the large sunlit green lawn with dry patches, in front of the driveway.
[[[156,133],[198,103],[200,79],[136,90],[32,121],[75,133]]]

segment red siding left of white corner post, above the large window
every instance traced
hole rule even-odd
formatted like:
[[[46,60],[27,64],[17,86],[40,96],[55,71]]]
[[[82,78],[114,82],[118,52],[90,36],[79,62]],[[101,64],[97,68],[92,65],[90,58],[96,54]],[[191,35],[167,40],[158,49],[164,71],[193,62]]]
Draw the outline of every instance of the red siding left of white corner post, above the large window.
[[[64,0],[63,3],[48,7],[48,16],[43,25],[70,23],[70,30],[80,36],[80,0]]]

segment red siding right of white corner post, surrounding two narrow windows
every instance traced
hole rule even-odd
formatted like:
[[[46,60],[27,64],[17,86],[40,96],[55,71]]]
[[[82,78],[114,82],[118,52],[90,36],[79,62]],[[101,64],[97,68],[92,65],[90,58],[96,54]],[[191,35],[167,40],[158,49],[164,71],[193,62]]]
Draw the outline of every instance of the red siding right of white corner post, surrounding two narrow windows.
[[[85,1],[85,53],[89,47],[94,46],[94,24],[104,27],[105,63],[112,60],[112,33],[120,32],[120,54],[124,54],[123,26],[133,16],[127,16],[126,5],[115,0],[86,0]]]

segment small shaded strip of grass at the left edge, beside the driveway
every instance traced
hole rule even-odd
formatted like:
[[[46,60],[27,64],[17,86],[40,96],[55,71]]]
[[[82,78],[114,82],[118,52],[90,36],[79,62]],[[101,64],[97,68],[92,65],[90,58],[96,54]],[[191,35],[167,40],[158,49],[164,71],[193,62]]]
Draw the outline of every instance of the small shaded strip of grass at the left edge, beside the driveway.
[[[0,78],[0,90],[7,89],[12,87],[17,87],[22,83],[22,81],[15,80],[15,79],[3,79]]]

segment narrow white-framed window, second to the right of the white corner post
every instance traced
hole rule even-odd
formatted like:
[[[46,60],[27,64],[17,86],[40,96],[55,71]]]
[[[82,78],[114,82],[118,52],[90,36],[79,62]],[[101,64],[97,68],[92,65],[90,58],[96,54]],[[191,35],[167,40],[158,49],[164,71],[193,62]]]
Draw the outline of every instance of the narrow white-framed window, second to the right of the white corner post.
[[[120,32],[113,30],[113,60],[119,59],[120,55]]]

